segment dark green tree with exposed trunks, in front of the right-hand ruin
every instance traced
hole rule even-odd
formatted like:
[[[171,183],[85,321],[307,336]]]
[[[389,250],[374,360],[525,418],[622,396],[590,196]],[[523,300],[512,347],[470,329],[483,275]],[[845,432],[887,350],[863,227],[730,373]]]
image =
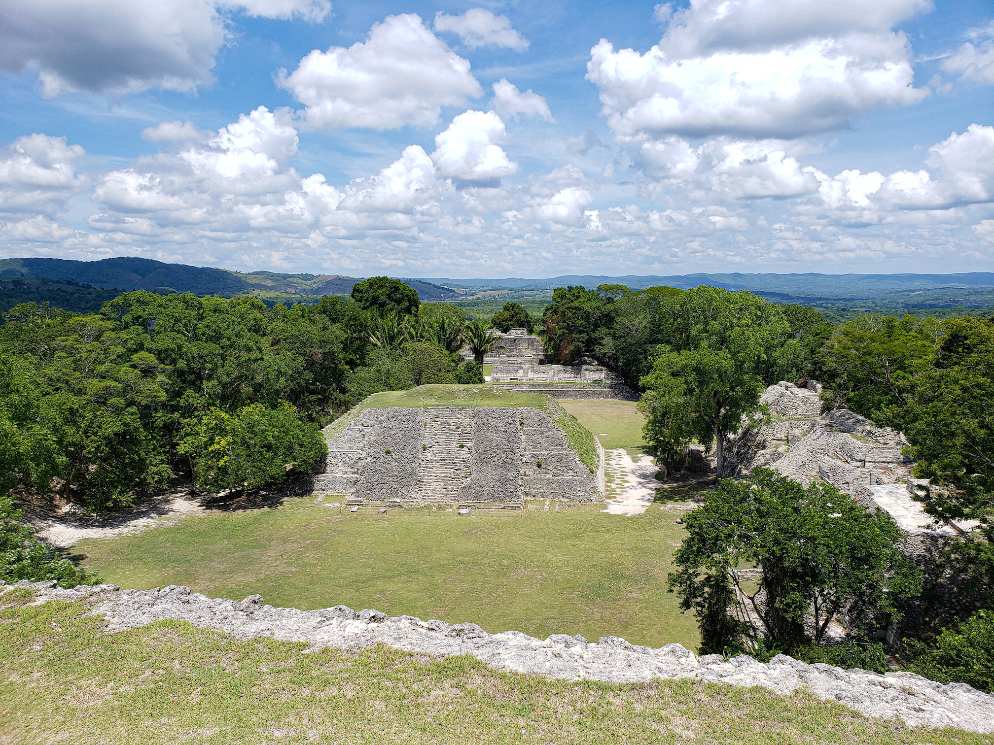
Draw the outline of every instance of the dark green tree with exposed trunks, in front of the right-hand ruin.
[[[788,654],[821,645],[843,612],[858,637],[881,614],[900,615],[898,600],[920,587],[888,516],[831,485],[804,487],[775,471],[721,482],[691,513],[687,531],[669,583],[702,621],[703,652],[755,649],[760,641]],[[734,571],[752,566],[761,569],[752,584]],[[751,624],[730,615],[737,597]]]

